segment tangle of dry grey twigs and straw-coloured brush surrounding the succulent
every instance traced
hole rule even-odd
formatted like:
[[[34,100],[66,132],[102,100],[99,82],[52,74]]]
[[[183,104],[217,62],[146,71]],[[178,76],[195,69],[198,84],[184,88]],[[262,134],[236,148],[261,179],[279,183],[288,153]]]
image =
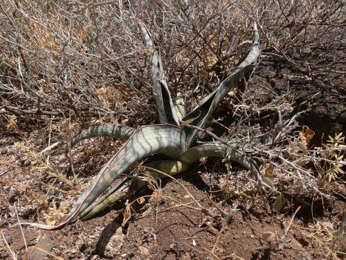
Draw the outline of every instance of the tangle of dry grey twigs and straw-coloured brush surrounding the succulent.
[[[237,210],[251,214],[251,209],[264,209],[271,216],[294,212],[296,218],[309,218],[306,236],[326,248],[329,257],[345,257],[345,203],[333,221],[328,213],[329,205],[346,196],[345,134],[334,128],[316,140],[321,130],[301,123],[311,121],[311,112],[320,112],[322,99],[337,107],[333,119],[345,119],[343,14],[345,3],[331,0],[1,1],[1,147],[8,145],[8,132],[17,139],[10,148],[15,154],[8,149],[1,153],[0,185],[20,194],[20,204],[13,205],[17,195],[6,198],[9,202],[0,204],[0,224],[17,223],[16,210],[21,219],[59,223],[73,195],[121,146],[104,139],[71,149],[69,140],[81,129],[101,122],[132,128],[158,123],[151,50],[143,43],[138,20],[161,55],[173,98],[182,95],[187,112],[242,62],[256,22],[260,60],[199,129],[199,139],[223,142],[255,160],[264,184],[257,189],[260,184],[252,175],[235,176],[236,167],[225,157],[218,163],[226,166],[227,175],[213,183],[210,177],[210,209],[192,194],[189,198],[195,209],[222,223],[220,234]],[[286,85],[278,85],[276,78]],[[302,96],[299,88],[304,86],[310,87]],[[214,172],[208,165],[208,172]],[[14,173],[24,177],[14,179]],[[154,192],[149,196],[163,198],[160,183],[149,180]],[[134,203],[126,202],[124,224]],[[313,212],[296,215],[298,206],[320,204],[330,222],[313,219]],[[268,243],[264,248],[283,250],[291,224],[284,234],[268,232],[271,241],[262,238]],[[1,236],[6,257],[15,258],[8,237]]]

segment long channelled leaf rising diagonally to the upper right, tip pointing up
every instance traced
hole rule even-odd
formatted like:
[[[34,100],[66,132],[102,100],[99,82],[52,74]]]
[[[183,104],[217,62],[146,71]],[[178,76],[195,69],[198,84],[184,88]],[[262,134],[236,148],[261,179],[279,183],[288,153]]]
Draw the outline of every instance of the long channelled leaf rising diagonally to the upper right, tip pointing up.
[[[244,75],[249,73],[257,60],[258,55],[260,55],[260,36],[258,35],[257,25],[254,24],[255,31],[255,40],[253,46],[251,48],[250,53],[246,56],[245,60],[239,64],[235,70],[224,80],[217,89],[215,89],[212,93],[210,93],[206,98],[201,101],[201,103],[192,110],[189,114],[183,117],[183,121],[188,121],[189,119],[196,118],[191,125],[196,125],[200,128],[203,128],[203,125],[211,116],[212,112],[219,106],[221,101],[224,99],[226,94],[230,92],[230,89],[235,87],[239,80],[243,78]],[[188,147],[191,146],[194,141],[198,130],[194,128],[185,128],[186,132],[186,143]]]

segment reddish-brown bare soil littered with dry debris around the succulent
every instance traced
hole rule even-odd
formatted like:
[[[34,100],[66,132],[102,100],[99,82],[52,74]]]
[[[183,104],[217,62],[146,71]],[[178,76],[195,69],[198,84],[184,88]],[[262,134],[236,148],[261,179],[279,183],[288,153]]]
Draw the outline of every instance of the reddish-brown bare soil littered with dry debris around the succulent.
[[[316,132],[315,143],[322,132],[345,133],[343,82],[311,83],[292,77],[294,71],[288,68],[277,69],[275,66],[275,60],[265,58],[251,84],[282,93],[289,83],[297,103],[322,90],[311,99],[313,108],[302,117],[301,123]],[[28,166],[33,160],[30,149],[40,151],[46,147],[47,130],[39,127],[26,130],[25,122],[18,125],[22,137],[7,129],[4,121],[1,122],[1,162]],[[59,130],[53,131],[51,144],[61,138]],[[85,141],[73,150],[75,169],[81,177],[96,173],[118,145],[110,139],[102,140]],[[50,162],[60,172],[71,175],[64,146],[58,146],[50,154]],[[136,209],[125,227],[121,227],[122,214],[116,209],[56,232],[23,227],[28,251],[19,226],[13,226],[18,222],[16,209],[19,220],[37,221],[37,207],[42,218],[42,212],[48,209],[53,198],[57,205],[67,197],[72,204],[76,196],[71,196],[73,192],[70,192],[66,197],[64,193],[39,184],[39,179],[34,180],[19,168],[1,164],[1,232],[18,259],[336,259],[329,245],[345,212],[345,182],[334,182],[326,188],[329,195],[335,196],[333,200],[309,195],[297,198],[287,193],[284,208],[277,213],[268,206],[273,198],[258,194],[252,196],[251,176],[237,167],[227,175],[226,168],[217,166],[213,170],[210,193],[209,177],[215,162],[208,161],[206,166],[196,165],[195,171],[178,178],[203,208],[210,209],[217,216],[215,218],[194,209],[196,204],[177,182],[163,182],[155,196],[147,199],[144,205],[135,205]],[[46,181],[46,177],[42,178],[42,182]],[[225,182],[230,185],[230,191],[226,193],[219,191],[224,189]],[[62,188],[64,184],[57,182],[56,187]],[[286,191],[290,192],[289,188]],[[145,194],[152,192],[148,190]],[[298,206],[301,209],[293,216]],[[221,218],[217,208],[228,215]],[[289,225],[291,219],[293,222]],[[287,227],[289,230],[284,235]],[[37,245],[40,237],[42,239]],[[35,245],[46,248],[55,257],[34,250]],[[0,259],[11,259],[3,243],[0,245]]]

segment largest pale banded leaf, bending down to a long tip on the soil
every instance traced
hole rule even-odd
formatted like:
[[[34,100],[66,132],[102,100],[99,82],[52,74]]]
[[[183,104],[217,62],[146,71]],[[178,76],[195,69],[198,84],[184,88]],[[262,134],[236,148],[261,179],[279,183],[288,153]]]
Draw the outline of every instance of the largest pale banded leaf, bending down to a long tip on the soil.
[[[60,225],[48,226],[37,223],[22,223],[42,229],[62,229],[78,219],[100,194],[109,187],[127,168],[140,159],[161,153],[175,159],[185,150],[185,132],[175,125],[147,125],[131,135],[129,140],[95,176],[90,186],[82,193]]]

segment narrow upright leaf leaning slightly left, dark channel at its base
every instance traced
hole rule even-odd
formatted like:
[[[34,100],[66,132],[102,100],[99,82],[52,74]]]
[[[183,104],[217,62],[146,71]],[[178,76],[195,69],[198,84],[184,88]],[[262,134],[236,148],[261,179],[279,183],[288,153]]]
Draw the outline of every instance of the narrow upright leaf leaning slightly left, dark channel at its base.
[[[155,46],[144,24],[140,22],[140,31],[142,32],[145,44],[152,48],[152,57],[150,59],[150,67],[152,69],[152,81],[154,84],[154,96],[160,123],[171,123],[179,125],[179,119],[173,105],[173,101],[165,81],[161,57],[156,51]]]

